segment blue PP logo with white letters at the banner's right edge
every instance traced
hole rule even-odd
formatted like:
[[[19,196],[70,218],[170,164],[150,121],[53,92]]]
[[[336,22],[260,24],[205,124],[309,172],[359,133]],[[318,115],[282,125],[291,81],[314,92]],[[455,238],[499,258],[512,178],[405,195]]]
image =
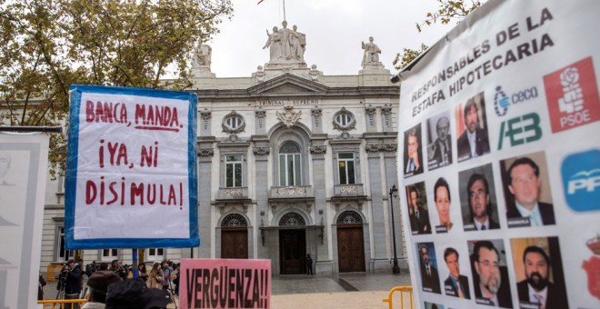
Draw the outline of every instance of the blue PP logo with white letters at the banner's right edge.
[[[575,212],[600,210],[600,150],[571,154],[561,166],[566,204]]]

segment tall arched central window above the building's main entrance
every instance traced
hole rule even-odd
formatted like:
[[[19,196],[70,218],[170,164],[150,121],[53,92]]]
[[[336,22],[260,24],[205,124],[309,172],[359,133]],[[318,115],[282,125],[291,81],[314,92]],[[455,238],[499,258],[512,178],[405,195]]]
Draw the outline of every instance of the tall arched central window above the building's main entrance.
[[[302,185],[300,146],[285,142],[279,148],[279,185]]]

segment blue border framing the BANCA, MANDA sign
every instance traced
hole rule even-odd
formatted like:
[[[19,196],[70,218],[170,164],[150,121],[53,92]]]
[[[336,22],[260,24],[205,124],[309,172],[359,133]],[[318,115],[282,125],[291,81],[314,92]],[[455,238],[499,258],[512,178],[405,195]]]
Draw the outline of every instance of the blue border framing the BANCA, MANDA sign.
[[[69,108],[69,135],[67,145],[65,179],[65,248],[66,249],[103,249],[103,248],[189,248],[200,245],[198,234],[198,177],[197,177],[197,103],[194,93],[167,91],[134,87],[114,87],[100,85],[71,85]],[[189,102],[187,130],[187,165],[189,179],[189,238],[95,238],[75,240],[75,196],[77,176],[77,150],[79,149],[79,113],[83,93],[111,95],[140,95],[186,100]]]

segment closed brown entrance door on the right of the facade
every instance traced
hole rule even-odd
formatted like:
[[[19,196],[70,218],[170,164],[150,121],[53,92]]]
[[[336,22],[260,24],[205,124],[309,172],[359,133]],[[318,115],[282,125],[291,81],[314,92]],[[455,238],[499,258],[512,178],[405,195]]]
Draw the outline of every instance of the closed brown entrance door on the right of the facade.
[[[340,273],[365,271],[363,225],[337,225],[337,256]]]

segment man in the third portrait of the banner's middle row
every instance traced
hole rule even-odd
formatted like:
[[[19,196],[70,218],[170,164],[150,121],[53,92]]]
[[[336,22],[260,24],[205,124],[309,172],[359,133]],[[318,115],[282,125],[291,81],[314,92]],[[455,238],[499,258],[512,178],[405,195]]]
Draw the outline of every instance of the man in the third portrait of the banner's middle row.
[[[471,211],[471,220],[475,230],[485,231],[500,228],[500,224],[492,219],[492,205],[487,179],[483,174],[471,174],[466,185],[466,194]]]

